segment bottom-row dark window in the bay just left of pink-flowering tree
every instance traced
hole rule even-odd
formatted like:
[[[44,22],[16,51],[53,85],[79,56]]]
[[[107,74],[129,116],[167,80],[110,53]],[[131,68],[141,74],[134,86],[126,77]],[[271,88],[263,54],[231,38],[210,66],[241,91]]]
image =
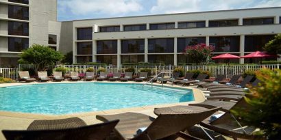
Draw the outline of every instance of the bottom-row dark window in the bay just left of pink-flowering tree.
[[[149,64],[173,65],[173,55],[148,55]]]

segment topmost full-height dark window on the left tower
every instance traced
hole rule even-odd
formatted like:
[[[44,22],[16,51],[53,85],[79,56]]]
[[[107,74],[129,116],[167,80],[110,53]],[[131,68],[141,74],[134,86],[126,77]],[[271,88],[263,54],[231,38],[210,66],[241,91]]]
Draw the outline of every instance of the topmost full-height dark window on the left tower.
[[[9,18],[29,20],[29,10],[23,6],[9,5]]]

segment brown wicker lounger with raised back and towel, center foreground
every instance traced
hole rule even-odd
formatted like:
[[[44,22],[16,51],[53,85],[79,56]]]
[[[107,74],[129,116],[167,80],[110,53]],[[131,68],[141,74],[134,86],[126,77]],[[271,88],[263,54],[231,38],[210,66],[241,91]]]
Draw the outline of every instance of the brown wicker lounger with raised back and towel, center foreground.
[[[219,108],[204,109],[204,111],[170,111],[160,114],[157,118],[141,113],[121,113],[97,115],[97,120],[108,122],[119,119],[115,133],[120,139],[156,140],[194,126],[218,110]]]

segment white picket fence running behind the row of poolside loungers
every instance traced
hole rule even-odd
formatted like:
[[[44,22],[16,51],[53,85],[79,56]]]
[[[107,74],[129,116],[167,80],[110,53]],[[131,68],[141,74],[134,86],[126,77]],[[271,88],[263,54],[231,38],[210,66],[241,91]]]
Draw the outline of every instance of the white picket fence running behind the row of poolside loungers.
[[[206,70],[210,72],[211,76],[217,76],[218,74],[226,74],[227,78],[232,77],[235,74],[242,75],[245,70],[260,70],[260,68],[279,69],[279,64],[270,65],[233,65],[233,66],[81,66],[81,65],[57,65],[49,66],[49,70],[53,68],[66,68],[66,73],[69,74],[71,71],[85,74],[88,68],[93,68],[95,74],[98,74],[99,68],[105,68],[107,72],[125,72],[127,68],[133,68],[135,72],[139,72],[141,68],[149,68],[151,75],[155,75],[156,72],[173,72],[175,68],[183,68],[184,73],[189,70]],[[19,69],[16,68],[0,68],[0,74],[3,77],[10,79],[17,79],[19,70],[35,70],[33,65],[19,65]]]

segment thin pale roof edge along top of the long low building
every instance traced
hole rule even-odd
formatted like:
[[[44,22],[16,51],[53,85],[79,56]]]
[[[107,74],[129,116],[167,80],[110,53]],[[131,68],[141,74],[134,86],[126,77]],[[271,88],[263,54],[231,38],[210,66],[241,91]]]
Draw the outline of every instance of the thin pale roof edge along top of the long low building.
[[[138,17],[147,17],[147,16],[168,16],[168,15],[180,15],[180,14],[201,14],[201,13],[209,13],[209,12],[231,12],[231,11],[243,11],[243,10],[264,10],[264,9],[276,9],[279,7],[268,7],[268,8],[244,8],[244,9],[233,9],[233,10],[214,10],[214,11],[203,11],[203,12],[184,12],[184,13],[173,13],[173,14],[151,14],[151,15],[142,15],[142,16],[118,16],[111,18],[88,18],[88,19],[80,19],[80,20],[65,20],[66,21],[83,21],[83,20],[106,20],[106,19],[116,19],[116,18],[138,18]]]

